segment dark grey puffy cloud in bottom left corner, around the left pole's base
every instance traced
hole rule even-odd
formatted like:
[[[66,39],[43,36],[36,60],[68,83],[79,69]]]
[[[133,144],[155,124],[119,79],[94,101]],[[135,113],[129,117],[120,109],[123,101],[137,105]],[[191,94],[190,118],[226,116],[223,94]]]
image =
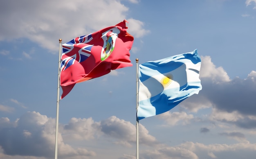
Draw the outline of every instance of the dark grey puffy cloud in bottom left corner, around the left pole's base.
[[[0,127],[0,146],[5,155],[14,156],[54,156],[55,120],[36,112],[27,112],[11,124],[2,120],[5,127]],[[58,137],[59,156],[68,159],[69,156],[95,156],[95,152],[84,148],[74,149],[65,144],[61,134]]]

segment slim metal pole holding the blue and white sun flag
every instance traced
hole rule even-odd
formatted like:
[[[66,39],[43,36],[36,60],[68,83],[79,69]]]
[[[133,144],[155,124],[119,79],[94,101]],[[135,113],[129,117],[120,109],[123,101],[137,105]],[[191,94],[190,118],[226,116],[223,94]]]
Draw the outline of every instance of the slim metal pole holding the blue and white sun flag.
[[[138,64],[139,59],[136,59],[136,159],[139,159],[139,120],[137,116],[138,112],[138,100],[139,100],[139,76],[138,76]]]

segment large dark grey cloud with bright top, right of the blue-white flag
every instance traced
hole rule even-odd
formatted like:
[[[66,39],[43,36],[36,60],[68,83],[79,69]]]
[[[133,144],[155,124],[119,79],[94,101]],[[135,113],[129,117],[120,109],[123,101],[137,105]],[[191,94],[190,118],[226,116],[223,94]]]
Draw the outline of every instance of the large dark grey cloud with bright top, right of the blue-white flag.
[[[251,71],[245,79],[229,79],[227,72],[206,56],[202,57],[200,79],[202,90],[181,102],[181,108],[191,112],[210,108],[212,122],[256,128],[256,71]]]

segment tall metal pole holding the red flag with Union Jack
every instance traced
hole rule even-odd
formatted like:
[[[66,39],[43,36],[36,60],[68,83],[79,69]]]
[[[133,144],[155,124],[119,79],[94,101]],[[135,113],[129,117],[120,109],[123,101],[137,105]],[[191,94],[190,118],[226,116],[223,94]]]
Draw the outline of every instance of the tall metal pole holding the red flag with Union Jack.
[[[58,158],[58,107],[60,102],[60,74],[61,74],[61,41],[62,39],[58,40],[60,43],[59,47],[59,54],[58,54],[58,87],[57,87],[57,111],[56,111],[56,132],[55,132],[55,158]]]

